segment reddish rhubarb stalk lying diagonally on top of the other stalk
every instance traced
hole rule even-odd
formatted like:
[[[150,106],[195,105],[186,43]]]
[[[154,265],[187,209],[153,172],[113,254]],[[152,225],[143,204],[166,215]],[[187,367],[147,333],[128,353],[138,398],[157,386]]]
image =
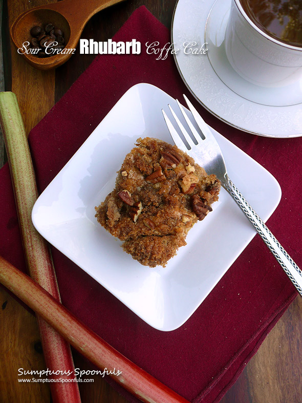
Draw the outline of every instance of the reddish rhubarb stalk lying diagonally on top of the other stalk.
[[[80,322],[45,289],[0,257],[0,283],[56,329],[81,354],[146,403],[188,403]],[[68,401],[68,400],[67,400]]]

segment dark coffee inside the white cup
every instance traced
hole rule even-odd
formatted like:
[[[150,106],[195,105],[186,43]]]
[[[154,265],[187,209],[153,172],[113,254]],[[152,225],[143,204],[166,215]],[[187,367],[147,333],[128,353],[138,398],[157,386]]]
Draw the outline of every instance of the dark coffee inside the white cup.
[[[252,22],[288,45],[302,47],[302,0],[240,0]]]

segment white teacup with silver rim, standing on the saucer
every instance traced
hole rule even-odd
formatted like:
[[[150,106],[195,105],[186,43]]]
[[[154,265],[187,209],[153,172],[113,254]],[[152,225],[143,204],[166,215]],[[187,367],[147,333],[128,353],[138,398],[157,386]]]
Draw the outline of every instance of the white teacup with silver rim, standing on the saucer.
[[[283,87],[302,79],[302,48],[285,44],[258,28],[240,0],[232,0],[225,50],[232,68],[249,82]]]

